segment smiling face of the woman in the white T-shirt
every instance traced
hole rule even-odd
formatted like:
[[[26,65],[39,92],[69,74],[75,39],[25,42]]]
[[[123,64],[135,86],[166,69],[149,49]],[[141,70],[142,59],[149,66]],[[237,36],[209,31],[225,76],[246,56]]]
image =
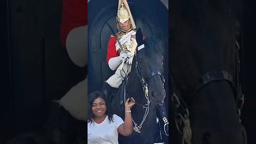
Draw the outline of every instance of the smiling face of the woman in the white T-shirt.
[[[92,114],[95,117],[101,117],[106,115],[106,102],[102,98],[97,98],[92,103]]]

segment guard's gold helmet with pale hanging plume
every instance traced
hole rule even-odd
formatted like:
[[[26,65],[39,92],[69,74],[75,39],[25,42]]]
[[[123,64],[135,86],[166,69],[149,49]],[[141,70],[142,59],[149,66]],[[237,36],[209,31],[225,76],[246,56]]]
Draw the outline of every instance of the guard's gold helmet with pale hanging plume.
[[[136,29],[127,1],[119,0],[116,21],[124,23],[126,20],[129,20],[129,19],[132,24],[132,29]]]

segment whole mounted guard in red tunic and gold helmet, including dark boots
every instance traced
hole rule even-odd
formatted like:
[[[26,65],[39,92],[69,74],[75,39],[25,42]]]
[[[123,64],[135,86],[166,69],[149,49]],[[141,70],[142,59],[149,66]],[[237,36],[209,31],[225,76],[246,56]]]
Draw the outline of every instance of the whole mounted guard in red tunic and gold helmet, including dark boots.
[[[137,47],[136,26],[126,0],[119,0],[117,11],[118,33],[111,35],[107,47],[107,63],[111,70],[116,70],[115,74],[104,82],[102,92],[107,96],[108,101],[115,97],[117,91],[124,79],[131,72],[133,55]],[[158,105],[158,117],[162,119],[161,131],[169,135],[169,122],[164,103]]]

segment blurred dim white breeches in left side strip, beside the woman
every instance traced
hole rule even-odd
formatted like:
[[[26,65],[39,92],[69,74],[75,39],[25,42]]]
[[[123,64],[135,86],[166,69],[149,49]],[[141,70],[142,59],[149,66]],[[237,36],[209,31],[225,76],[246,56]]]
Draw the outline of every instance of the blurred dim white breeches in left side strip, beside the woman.
[[[74,118],[87,121],[87,78],[73,86],[59,103]]]

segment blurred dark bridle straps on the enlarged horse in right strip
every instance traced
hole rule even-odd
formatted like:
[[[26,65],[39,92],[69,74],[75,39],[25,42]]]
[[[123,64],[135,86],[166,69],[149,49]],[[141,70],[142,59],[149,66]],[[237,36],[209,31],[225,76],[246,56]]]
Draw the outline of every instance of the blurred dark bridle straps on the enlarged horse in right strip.
[[[240,50],[240,47],[238,42],[236,41],[236,50],[235,50],[236,79],[234,79],[233,76],[228,71],[225,71],[225,70],[210,71],[199,78],[198,82],[195,85],[196,88],[193,94],[196,94],[196,92],[201,90],[203,86],[211,82],[214,82],[214,81],[229,82],[229,84],[233,89],[233,93],[236,97],[237,115],[238,115],[239,121],[241,122],[240,117],[241,117],[241,109],[244,104],[244,94],[242,92],[242,83],[241,81],[239,81],[242,78],[241,61],[239,59],[239,50]],[[192,132],[191,132],[190,121],[189,121],[189,110],[186,103],[183,101],[181,94],[179,93],[179,89],[175,84],[171,74],[170,74],[170,79],[171,79],[170,86],[171,86],[171,92],[172,92],[171,100],[174,104],[175,124],[179,133],[183,134],[182,143],[184,143],[185,141],[186,143],[190,144],[192,139]]]

